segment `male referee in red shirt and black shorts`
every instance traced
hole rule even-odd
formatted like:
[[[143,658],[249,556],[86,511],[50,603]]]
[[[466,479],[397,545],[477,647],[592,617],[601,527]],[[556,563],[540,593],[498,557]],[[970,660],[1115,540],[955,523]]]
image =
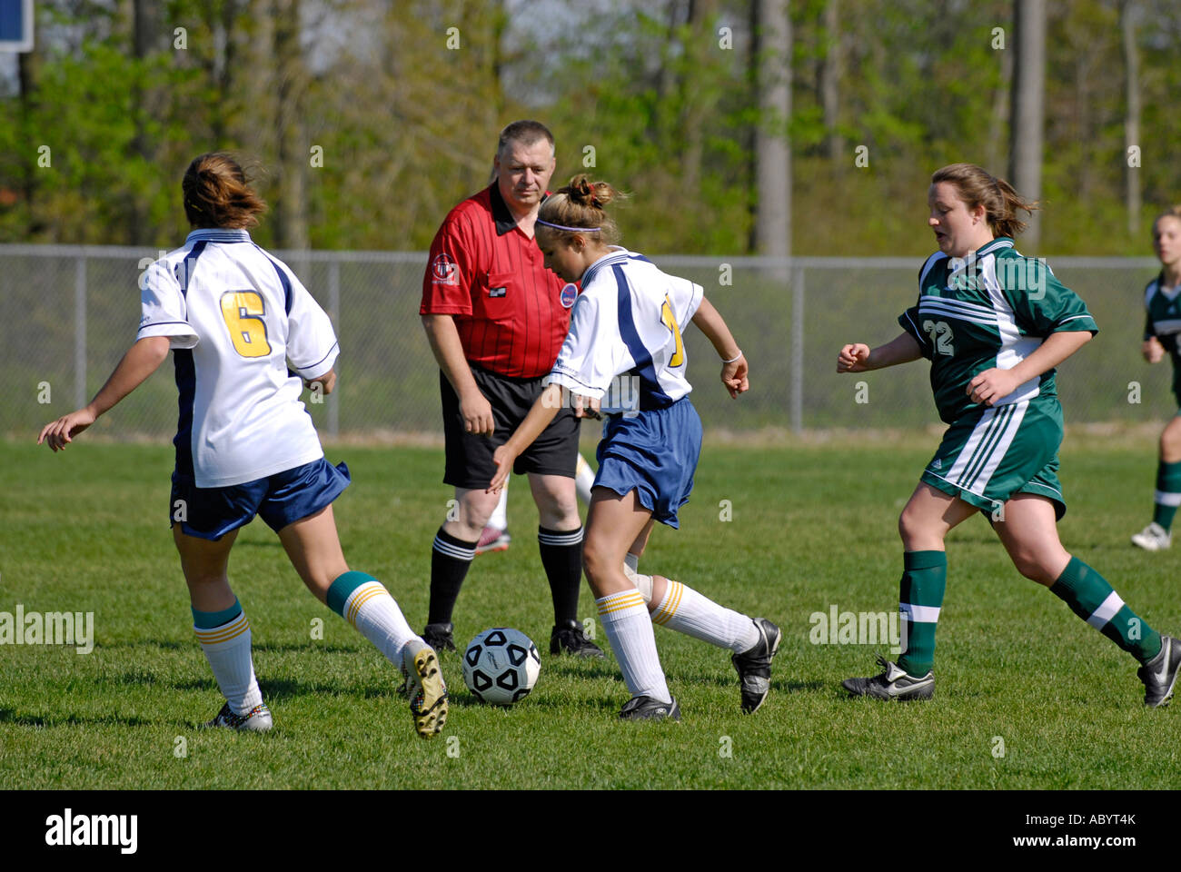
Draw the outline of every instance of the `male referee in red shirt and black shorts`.
[[[418,313],[439,365],[446,469],[458,519],[435,534],[431,601],[423,638],[455,650],[455,609],[476,545],[496,508],[485,489],[492,453],[541,393],[570,321],[574,285],[546,269],[533,237],[537,209],[554,173],[554,137],[535,121],[501,131],[495,178],[448,214],[431,243]],[[549,652],[602,657],[578,622],[582,523],[574,474],[579,419],[563,409],[514,464],[529,474],[537,503],[537,542],[554,598]]]

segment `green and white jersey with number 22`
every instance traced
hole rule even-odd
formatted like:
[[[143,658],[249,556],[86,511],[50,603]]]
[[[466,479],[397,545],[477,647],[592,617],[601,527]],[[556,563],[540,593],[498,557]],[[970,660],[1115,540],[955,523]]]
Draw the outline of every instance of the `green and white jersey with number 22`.
[[[927,258],[919,302],[898,320],[931,360],[935,405],[948,424],[985,409],[967,396],[977,373],[1012,369],[1056,331],[1098,332],[1087,304],[1042,261],[1018,254],[1007,236],[968,259],[942,252]],[[993,405],[1056,397],[1053,373],[1035,376]]]

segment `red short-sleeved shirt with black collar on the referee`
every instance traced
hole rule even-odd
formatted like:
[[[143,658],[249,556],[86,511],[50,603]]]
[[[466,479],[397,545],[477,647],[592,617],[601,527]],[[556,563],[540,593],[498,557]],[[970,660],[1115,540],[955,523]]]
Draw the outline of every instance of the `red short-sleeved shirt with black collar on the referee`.
[[[543,261],[492,182],[451,209],[435,234],[418,313],[455,315],[469,363],[514,378],[544,376],[576,292],[563,294]]]

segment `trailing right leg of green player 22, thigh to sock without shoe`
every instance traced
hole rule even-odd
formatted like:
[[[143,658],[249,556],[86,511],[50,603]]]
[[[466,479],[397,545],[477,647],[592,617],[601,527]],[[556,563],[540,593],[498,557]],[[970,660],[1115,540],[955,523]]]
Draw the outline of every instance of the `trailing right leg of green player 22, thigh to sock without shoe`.
[[[1017,494],[1005,503],[1004,521],[993,528],[1019,573],[1049,587],[1141,664],[1160,652],[1161,635],[1136,617],[1100,573],[1062,547],[1050,500]]]

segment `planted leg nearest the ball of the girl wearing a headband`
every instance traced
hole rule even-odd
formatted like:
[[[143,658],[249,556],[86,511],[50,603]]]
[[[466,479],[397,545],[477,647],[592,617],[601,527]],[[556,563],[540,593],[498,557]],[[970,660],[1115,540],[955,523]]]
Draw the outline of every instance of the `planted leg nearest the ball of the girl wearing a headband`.
[[[582,568],[595,596],[599,620],[615,652],[632,698],[650,697],[652,704],[633,705],[622,716],[676,716],[672,695],[660,669],[652,619],[644,598],[624,572],[628,547],[651,521],[634,490],[620,496],[603,487],[590,493]]]

